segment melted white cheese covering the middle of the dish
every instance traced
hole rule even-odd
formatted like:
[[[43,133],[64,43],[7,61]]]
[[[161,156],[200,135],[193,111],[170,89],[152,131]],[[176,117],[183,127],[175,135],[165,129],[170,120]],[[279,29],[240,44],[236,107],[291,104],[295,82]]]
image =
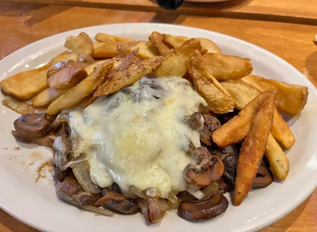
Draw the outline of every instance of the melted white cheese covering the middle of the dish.
[[[188,187],[184,169],[193,163],[188,150],[190,142],[200,146],[200,133],[184,116],[200,104],[207,106],[183,78],[143,77],[84,111],[69,112],[73,149],[90,155],[90,175],[99,186],[158,188],[167,197]]]

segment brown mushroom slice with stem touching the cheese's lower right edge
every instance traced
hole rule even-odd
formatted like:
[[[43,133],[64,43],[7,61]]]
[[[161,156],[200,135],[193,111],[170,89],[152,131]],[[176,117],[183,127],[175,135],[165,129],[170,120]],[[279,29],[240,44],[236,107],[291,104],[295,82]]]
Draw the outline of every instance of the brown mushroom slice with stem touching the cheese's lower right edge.
[[[205,187],[221,177],[224,168],[219,157],[211,155],[203,146],[197,148],[193,155],[197,165],[190,164],[185,169],[185,178],[191,187]]]

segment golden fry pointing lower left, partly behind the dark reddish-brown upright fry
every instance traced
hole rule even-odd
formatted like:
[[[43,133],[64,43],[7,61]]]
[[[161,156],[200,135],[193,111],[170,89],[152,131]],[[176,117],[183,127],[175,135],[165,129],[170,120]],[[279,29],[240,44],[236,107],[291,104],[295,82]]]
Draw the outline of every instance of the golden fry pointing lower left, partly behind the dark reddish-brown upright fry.
[[[227,123],[212,133],[212,140],[219,147],[227,147],[231,144],[241,142],[248,135],[252,120],[259,111],[264,100],[272,92],[264,92],[249,102],[237,116],[234,116]]]

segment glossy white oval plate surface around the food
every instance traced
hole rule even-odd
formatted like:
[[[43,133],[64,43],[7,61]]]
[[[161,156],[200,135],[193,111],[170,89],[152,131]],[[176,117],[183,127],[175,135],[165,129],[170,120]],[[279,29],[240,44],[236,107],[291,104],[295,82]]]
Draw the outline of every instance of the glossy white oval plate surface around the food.
[[[257,231],[294,210],[317,186],[317,90],[289,63],[255,45],[211,31],[167,24],[131,23],[101,25],[57,34],[30,44],[0,61],[1,79],[12,74],[38,67],[64,51],[67,36],[86,32],[92,38],[99,32],[132,39],[147,40],[153,31],[187,37],[203,37],[213,40],[224,54],[251,58],[254,74],[266,78],[305,85],[309,88],[308,103],[302,113],[288,118],[295,138],[295,145],[286,151],[290,160],[290,172],[284,183],[273,182],[266,188],[253,190],[243,203],[230,205],[219,217],[202,223],[190,223],[179,218],[176,212],[168,212],[163,220],[148,225],[141,214],[112,218],[83,211],[58,200],[54,191],[52,174],[48,179],[35,183],[35,170],[52,153],[44,148],[17,143],[10,134],[13,120],[19,115],[0,105],[0,206],[22,222],[39,230],[63,231]],[[273,43],[273,41],[272,41]],[[1,97],[3,98],[3,96]],[[14,150],[14,147],[20,150]],[[7,148],[7,149],[3,149]],[[44,157],[36,161],[32,152]]]

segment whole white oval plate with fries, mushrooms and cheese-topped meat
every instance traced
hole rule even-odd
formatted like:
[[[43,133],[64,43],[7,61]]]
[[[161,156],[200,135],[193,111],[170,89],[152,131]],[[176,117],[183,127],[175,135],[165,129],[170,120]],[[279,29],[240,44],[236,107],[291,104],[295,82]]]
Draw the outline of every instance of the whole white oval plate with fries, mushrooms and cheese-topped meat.
[[[96,35],[99,44],[90,39]],[[145,42],[148,39],[151,42]],[[64,45],[73,53],[65,52]],[[98,60],[105,57],[111,59]],[[66,59],[77,62],[65,63]],[[101,25],[57,34],[18,50],[1,60],[1,80],[34,68],[39,69],[15,76],[17,82],[1,82],[4,92],[13,96],[2,94],[4,105],[23,115],[41,106],[47,115],[16,120],[19,114],[0,106],[0,181],[5,190],[0,205],[39,230],[90,231],[106,226],[118,231],[257,231],[290,213],[316,188],[316,88],[286,61],[257,46],[175,25]],[[34,80],[43,73],[48,83]],[[33,106],[16,104],[14,98],[32,98]],[[274,102],[288,113],[283,116],[290,129]],[[139,115],[145,109],[148,113]],[[53,142],[48,133],[57,133],[60,124],[63,130]],[[49,149],[15,140],[11,130],[16,137],[53,148],[54,158]],[[70,149],[71,160],[63,155]],[[142,156],[147,154],[144,150],[161,154],[160,160]],[[261,162],[264,150],[267,160]],[[107,155],[101,155],[105,151]],[[179,156],[173,160],[171,154]],[[156,168],[155,162],[164,164]],[[138,170],[140,163],[145,168]],[[232,164],[234,170],[237,166],[236,176]],[[227,188],[233,190],[236,184],[232,194],[222,195],[220,182],[212,185],[223,173],[224,182],[231,180]],[[266,187],[250,191],[252,185]],[[76,190],[71,192],[69,186]],[[193,201],[178,202],[180,217],[177,210],[165,212],[182,198]],[[87,199],[98,204],[92,206]],[[109,209],[136,214],[107,217],[83,209],[108,216],[113,215]]]

